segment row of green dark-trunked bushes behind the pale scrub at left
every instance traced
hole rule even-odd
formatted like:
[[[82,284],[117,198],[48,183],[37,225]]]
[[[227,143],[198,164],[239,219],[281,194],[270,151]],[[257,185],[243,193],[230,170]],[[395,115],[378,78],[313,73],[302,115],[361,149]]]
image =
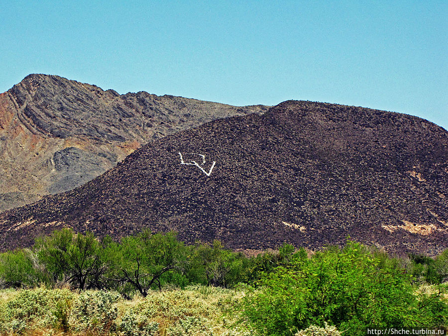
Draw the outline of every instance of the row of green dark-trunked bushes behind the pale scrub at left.
[[[282,248],[249,259],[224,248],[218,240],[185,246],[174,232],[144,230],[119,242],[109,236],[100,242],[91,232],[64,228],[37,238],[32,249],[0,254],[0,288],[32,288],[44,283],[80,290],[112,289],[130,298],[135,291],[145,296],[165,285],[232,287],[254,281],[289,258],[293,247]]]

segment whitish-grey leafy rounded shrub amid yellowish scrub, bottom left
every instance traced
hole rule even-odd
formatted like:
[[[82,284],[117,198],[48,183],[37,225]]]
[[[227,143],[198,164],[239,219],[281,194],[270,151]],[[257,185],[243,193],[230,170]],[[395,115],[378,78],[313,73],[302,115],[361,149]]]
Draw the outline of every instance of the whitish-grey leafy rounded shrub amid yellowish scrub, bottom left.
[[[102,333],[113,330],[118,316],[116,292],[86,291],[72,304],[69,323],[75,331]]]

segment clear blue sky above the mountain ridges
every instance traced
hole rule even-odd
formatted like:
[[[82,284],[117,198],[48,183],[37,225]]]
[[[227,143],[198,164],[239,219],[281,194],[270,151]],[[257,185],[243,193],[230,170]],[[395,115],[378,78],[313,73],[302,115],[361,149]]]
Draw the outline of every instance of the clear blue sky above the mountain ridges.
[[[231,105],[288,99],[448,128],[448,1],[9,1],[0,92],[29,73]]]

